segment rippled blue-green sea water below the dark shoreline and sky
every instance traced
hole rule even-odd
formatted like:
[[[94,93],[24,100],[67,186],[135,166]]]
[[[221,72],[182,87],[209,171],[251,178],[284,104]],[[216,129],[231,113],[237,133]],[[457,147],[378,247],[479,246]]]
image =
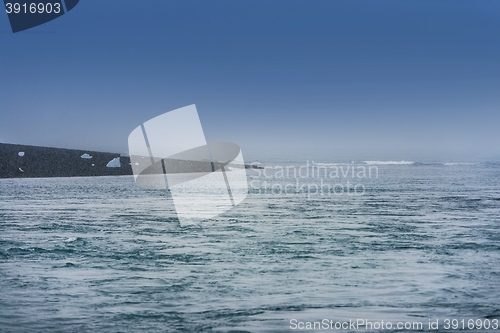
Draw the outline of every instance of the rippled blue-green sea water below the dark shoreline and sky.
[[[0,180],[0,332],[500,319],[499,163],[302,165],[249,170],[241,205],[191,225],[133,177]]]

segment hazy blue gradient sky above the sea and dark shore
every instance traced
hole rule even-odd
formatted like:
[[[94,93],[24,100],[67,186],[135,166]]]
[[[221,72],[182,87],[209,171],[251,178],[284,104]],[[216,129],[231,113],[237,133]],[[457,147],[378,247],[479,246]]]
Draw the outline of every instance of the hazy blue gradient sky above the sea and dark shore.
[[[0,40],[0,142],[122,152],[196,104],[252,159],[500,158],[497,0],[82,0]]]

